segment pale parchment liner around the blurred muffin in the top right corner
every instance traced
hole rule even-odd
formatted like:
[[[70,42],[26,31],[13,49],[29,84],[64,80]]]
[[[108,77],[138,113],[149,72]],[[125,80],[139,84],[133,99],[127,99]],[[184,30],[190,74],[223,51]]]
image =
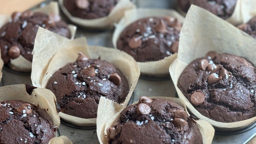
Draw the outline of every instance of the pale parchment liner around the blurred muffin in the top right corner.
[[[226,21],[235,26],[246,23],[256,15],[255,6],[255,0],[237,0],[233,14],[230,18],[226,19]],[[186,16],[186,13],[178,5],[176,5],[176,7],[179,13]]]

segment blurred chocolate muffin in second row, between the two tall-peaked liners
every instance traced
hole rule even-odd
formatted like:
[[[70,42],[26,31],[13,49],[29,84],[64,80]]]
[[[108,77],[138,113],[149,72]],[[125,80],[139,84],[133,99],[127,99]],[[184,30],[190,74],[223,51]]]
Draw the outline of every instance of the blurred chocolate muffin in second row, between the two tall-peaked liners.
[[[148,17],[128,25],[117,48],[137,62],[158,61],[178,52],[182,24],[173,17]]]

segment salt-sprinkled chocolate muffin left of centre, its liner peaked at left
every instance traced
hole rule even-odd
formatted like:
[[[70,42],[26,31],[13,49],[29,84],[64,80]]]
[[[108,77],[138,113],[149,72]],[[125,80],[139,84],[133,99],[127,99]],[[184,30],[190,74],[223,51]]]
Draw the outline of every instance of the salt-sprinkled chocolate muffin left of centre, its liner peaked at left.
[[[56,95],[63,113],[80,118],[97,117],[101,96],[121,103],[129,93],[127,79],[117,67],[81,53],[76,62],[56,71],[46,88]]]

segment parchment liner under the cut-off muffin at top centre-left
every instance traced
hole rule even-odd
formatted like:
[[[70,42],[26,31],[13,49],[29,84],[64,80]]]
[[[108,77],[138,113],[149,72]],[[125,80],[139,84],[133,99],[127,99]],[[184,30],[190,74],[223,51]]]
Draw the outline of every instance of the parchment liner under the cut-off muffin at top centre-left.
[[[113,29],[114,23],[119,22],[126,10],[135,8],[130,0],[120,0],[108,16],[95,19],[83,19],[72,16],[64,7],[63,0],[59,0],[59,6],[71,22],[83,27],[96,29]]]

